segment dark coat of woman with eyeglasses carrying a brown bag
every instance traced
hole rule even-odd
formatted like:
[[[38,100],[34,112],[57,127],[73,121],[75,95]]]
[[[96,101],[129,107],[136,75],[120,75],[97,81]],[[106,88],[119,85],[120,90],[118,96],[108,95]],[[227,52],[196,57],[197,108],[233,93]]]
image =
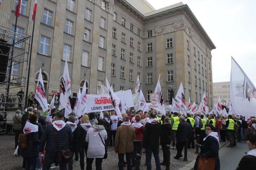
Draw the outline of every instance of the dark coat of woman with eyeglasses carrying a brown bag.
[[[215,158],[215,170],[220,170],[219,146],[219,142],[215,137],[209,136],[206,138],[200,148],[200,154],[197,155],[194,170],[197,170],[200,155],[206,158]]]

